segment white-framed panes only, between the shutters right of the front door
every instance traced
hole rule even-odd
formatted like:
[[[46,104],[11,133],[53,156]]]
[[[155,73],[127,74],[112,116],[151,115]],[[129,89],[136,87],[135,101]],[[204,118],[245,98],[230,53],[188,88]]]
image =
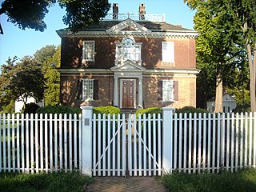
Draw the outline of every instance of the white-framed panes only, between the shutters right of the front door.
[[[174,81],[169,79],[162,80],[162,101],[174,102]]]

